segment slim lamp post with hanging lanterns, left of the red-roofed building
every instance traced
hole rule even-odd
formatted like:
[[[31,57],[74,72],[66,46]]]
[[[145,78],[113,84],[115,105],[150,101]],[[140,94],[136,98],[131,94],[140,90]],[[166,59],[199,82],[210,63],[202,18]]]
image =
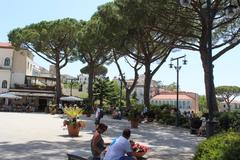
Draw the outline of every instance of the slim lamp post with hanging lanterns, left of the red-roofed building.
[[[180,56],[180,57],[176,57],[176,58],[171,58],[171,62],[169,64],[169,67],[170,68],[173,68],[173,61],[177,61],[177,65],[174,66],[174,68],[176,69],[177,71],[177,104],[176,104],[176,108],[177,108],[177,111],[176,111],[176,127],[178,127],[179,125],[179,71],[181,69],[182,66],[179,66],[179,59],[183,59],[183,65],[186,65],[187,64],[187,60],[186,60],[186,55],[184,56]]]

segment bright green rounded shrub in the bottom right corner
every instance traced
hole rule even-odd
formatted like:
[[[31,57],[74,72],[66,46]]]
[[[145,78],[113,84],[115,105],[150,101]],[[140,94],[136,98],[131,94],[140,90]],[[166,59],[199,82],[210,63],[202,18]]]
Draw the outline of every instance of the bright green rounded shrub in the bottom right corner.
[[[199,144],[194,160],[239,160],[240,134],[226,132]]]

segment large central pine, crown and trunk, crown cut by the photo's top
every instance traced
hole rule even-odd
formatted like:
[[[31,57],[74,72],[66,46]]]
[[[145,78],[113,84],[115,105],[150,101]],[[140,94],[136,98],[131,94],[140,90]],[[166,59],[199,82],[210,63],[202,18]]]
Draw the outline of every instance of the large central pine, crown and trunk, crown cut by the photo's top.
[[[168,36],[164,32],[171,33],[179,28],[179,32],[186,32],[185,27],[175,23],[176,19],[181,19],[176,14],[178,8],[175,1],[116,0],[99,7],[97,12],[111,31],[107,37],[112,39],[111,47],[119,54],[117,57],[128,55],[145,66],[144,103],[147,106],[150,104],[151,78],[172,50],[174,36],[179,35]],[[161,30],[156,31],[159,28]],[[158,65],[152,68],[154,62]]]

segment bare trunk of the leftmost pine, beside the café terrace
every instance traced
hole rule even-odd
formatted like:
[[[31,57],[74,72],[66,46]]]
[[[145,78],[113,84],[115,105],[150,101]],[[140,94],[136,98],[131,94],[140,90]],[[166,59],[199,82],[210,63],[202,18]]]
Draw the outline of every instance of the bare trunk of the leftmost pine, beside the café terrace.
[[[62,96],[62,87],[61,87],[61,74],[60,74],[60,67],[59,67],[59,54],[56,54],[56,104],[57,107],[60,103],[60,97]]]

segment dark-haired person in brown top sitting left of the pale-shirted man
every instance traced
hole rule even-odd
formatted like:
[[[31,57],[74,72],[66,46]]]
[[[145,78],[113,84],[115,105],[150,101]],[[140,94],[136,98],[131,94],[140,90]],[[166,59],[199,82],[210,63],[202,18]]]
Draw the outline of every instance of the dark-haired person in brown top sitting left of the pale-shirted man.
[[[100,160],[101,153],[105,150],[104,141],[101,134],[107,130],[108,126],[100,123],[94,132],[91,140],[91,151],[93,155],[93,160]]]

